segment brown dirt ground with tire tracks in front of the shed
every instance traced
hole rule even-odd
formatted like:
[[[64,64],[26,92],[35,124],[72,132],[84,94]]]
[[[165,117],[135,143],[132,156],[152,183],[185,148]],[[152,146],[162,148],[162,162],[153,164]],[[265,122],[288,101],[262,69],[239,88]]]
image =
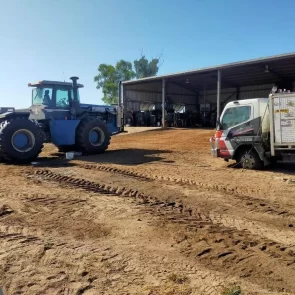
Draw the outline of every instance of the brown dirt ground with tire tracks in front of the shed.
[[[133,130],[102,155],[0,165],[4,295],[295,294],[295,169],[231,168],[213,134]]]

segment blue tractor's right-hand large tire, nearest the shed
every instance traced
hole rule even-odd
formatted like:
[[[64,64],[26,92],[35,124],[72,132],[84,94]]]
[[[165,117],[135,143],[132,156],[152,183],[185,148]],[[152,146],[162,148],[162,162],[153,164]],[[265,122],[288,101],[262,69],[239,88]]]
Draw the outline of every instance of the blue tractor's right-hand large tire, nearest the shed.
[[[110,144],[111,136],[99,119],[82,120],[76,132],[76,145],[85,154],[101,154]]]

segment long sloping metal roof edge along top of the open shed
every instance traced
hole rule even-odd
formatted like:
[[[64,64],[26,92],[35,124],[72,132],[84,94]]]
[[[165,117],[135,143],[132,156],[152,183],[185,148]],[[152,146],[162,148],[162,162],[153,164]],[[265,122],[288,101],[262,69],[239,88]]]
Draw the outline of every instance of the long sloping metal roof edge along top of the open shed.
[[[222,70],[222,69],[229,69],[229,68],[234,68],[234,67],[239,67],[239,66],[255,65],[258,63],[262,63],[262,62],[278,61],[281,59],[288,59],[288,58],[295,59],[295,52],[285,53],[285,54],[280,54],[280,55],[273,55],[273,56],[268,56],[268,57],[262,57],[262,58],[257,58],[257,59],[251,59],[251,60],[246,60],[246,61],[233,62],[233,63],[222,64],[222,65],[218,65],[218,66],[199,68],[199,69],[194,69],[194,70],[189,70],[189,71],[184,71],[184,72],[177,72],[177,73],[172,73],[172,74],[167,74],[167,75],[147,77],[147,78],[142,78],[142,79],[138,79],[138,80],[124,81],[122,83],[123,84],[136,84],[136,83],[148,82],[148,81],[153,81],[153,80],[161,80],[163,78],[173,78],[173,77],[182,76],[182,75],[199,74],[199,73],[217,71],[217,70]]]

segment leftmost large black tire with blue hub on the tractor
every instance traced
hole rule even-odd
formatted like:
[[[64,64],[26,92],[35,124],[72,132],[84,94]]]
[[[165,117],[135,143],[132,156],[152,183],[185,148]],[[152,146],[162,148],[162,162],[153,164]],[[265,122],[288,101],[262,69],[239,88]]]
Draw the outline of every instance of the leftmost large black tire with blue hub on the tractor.
[[[13,118],[0,125],[0,156],[9,162],[36,159],[43,148],[43,133],[37,123],[26,118]]]

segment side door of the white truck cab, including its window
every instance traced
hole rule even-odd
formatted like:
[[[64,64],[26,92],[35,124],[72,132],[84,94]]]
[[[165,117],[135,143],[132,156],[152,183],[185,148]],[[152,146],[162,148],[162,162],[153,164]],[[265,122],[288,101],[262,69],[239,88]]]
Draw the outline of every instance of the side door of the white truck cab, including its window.
[[[251,142],[254,135],[252,104],[237,104],[226,108],[221,118],[219,131],[219,155],[230,159],[240,144]]]

